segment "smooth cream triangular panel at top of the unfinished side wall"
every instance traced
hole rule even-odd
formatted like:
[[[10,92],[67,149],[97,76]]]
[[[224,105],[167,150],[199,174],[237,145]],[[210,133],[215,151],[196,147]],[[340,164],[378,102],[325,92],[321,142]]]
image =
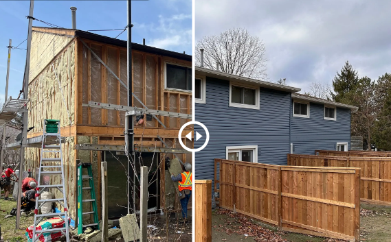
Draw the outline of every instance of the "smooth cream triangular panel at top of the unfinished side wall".
[[[29,80],[41,73],[45,66],[52,62],[53,58],[63,51],[71,42],[73,36],[63,34],[44,33],[32,31],[31,53],[30,53],[30,77]]]

